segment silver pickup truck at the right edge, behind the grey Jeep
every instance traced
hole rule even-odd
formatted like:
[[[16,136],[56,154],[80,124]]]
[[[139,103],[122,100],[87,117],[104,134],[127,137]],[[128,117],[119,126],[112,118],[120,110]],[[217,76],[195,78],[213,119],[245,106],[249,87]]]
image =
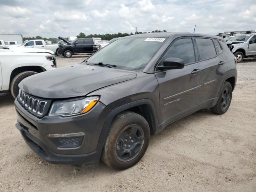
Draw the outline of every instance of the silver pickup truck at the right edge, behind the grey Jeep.
[[[256,34],[235,36],[226,42],[240,63],[244,58],[256,58]]]

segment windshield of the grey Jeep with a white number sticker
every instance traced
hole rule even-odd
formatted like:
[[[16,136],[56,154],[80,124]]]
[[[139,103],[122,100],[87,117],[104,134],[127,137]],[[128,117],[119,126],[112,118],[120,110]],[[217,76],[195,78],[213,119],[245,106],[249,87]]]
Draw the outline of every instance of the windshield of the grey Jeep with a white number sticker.
[[[164,40],[164,38],[119,39],[88,58],[88,63],[101,62],[124,70],[143,70]]]

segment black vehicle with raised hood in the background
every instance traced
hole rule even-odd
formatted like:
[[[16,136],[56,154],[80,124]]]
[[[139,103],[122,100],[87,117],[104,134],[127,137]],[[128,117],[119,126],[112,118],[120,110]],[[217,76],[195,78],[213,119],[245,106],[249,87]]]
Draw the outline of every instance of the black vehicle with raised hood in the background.
[[[62,54],[66,58],[72,57],[73,54],[93,54],[95,51],[93,50],[93,39],[75,39],[72,42],[68,42],[63,37],[58,37],[63,40],[66,45],[60,44],[58,48],[58,54]]]

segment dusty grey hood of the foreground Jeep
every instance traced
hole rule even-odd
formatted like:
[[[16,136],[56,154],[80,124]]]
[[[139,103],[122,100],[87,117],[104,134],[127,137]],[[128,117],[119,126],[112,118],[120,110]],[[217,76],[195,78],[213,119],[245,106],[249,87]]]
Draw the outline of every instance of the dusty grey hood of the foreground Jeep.
[[[19,87],[42,98],[70,98],[136,78],[136,72],[76,64],[29,76]]]

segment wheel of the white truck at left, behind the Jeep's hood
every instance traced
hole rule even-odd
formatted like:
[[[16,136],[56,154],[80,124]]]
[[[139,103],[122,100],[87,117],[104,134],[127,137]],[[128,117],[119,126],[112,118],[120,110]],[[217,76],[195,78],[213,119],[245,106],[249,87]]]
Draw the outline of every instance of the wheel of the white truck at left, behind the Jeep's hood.
[[[37,74],[37,72],[34,71],[24,71],[16,75],[10,84],[10,91],[14,98],[16,98],[19,94],[19,87],[18,84],[26,77]]]

